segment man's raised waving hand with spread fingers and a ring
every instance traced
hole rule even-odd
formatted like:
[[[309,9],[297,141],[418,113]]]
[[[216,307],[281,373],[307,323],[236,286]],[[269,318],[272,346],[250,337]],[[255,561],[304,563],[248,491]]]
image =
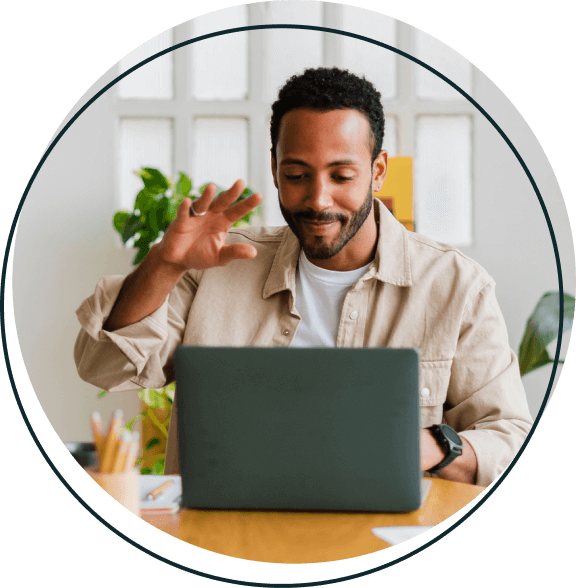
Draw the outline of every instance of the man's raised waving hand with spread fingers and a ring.
[[[262,202],[261,194],[252,194],[236,202],[244,191],[244,182],[237,180],[229,190],[217,198],[216,186],[209,184],[203,194],[194,200],[185,198],[176,218],[170,223],[158,245],[159,258],[179,271],[208,269],[224,266],[235,259],[256,257],[253,245],[238,243],[225,245],[230,227]]]

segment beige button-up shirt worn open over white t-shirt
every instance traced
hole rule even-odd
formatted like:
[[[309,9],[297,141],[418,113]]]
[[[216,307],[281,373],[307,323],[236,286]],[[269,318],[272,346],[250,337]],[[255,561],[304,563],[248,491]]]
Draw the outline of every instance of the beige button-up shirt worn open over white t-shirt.
[[[445,422],[465,437],[478,459],[476,483],[488,486],[533,424],[494,280],[457,249],[407,231],[380,201],[375,208],[376,257],[346,295],[336,344],[419,349],[421,426]],[[249,242],[258,255],[187,272],[158,310],[114,332],[102,326],[124,277],[101,279],[76,311],[80,377],[109,391],[161,388],[173,379],[179,344],[288,347],[300,320],[296,236],[288,227],[235,228],[228,242]],[[176,405],[166,474],[179,472]]]

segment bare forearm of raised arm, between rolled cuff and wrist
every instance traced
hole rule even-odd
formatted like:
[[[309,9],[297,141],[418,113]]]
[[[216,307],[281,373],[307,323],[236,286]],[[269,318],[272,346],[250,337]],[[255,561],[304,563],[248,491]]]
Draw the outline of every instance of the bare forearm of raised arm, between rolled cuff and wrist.
[[[112,312],[104,324],[106,331],[132,325],[160,308],[184,275],[163,263],[154,245],[142,263],[126,278]]]

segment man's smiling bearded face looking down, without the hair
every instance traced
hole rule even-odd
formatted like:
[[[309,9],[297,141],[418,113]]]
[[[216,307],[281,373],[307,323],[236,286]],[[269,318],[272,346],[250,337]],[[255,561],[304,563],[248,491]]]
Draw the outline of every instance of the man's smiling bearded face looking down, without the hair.
[[[351,241],[362,246],[371,156],[370,124],[357,110],[296,109],[282,117],[272,173],[280,210],[309,259],[331,259]]]

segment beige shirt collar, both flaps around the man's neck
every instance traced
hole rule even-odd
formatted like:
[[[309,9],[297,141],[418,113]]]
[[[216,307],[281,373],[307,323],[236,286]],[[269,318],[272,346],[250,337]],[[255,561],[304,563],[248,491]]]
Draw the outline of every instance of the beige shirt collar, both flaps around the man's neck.
[[[398,222],[386,206],[374,199],[378,221],[378,245],[374,264],[362,280],[374,277],[395,286],[411,286],[410,238],[408,230]],[[300,255],[300,243],[289,227],[285,228],[282,241],[274,257],[268,279],[264,284],[264,298],[282,290],[296,290],[296,267]]]

